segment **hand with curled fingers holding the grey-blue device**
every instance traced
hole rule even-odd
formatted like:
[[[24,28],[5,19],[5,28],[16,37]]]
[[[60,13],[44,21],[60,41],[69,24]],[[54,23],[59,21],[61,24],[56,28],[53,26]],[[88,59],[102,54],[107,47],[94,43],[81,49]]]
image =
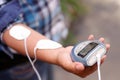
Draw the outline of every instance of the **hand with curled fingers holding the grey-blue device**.
[[[93,40],[93,39],[94,39],[93,35],[90,35],[88,37],[88,40]],[[100,38],[99,40],[103,43],[105,41],[104,38]],[[59,53],[58,58],[57,58],[58,64],[63,69],[67,70],[68,72],[74,73],[82,78],[95,72],[97,69],[97,64],[94,64],[91,67],[85,67],[82,63],[73,62],[71,60],[70,53],[71,53],[72,48],[73,46],[66,47]],[[110,48],[110,44],[106,44],[106,48],[108,51]],[[104,62],[105,58],[106,58],[106,55],[102,57],[101,64]]]

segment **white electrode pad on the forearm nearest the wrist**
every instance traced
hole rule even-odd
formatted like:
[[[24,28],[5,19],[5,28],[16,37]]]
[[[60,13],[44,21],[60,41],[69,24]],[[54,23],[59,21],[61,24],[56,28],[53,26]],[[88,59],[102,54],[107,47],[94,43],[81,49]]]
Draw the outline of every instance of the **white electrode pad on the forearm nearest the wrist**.
[[[47,39],[39,40],[36,44],[36,48],[38,49],[57,49],[62,47],[61,44]]]

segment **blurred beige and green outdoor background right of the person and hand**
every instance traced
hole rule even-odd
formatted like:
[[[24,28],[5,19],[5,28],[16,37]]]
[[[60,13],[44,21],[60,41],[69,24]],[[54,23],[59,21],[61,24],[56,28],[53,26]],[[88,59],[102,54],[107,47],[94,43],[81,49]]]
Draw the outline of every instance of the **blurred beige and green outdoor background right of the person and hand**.
[[[101,66],[102,80],[120,78],[120,0],[61,0],[69,35],[64,46],[84,41],[93,34],[111,44],[108,57]],[[97,71],[80,78],[53,65],[54,80],[98,80]]]

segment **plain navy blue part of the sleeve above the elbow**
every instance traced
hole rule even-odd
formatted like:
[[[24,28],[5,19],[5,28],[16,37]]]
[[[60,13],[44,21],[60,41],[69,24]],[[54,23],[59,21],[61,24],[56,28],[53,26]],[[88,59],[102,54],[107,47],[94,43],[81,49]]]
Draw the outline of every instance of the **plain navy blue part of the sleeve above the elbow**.
[[[22,13],[18,0],[12,0],[0,8],[0,32],[2,33],[10,23]],[[1,35],[1,34],[0,34]]]

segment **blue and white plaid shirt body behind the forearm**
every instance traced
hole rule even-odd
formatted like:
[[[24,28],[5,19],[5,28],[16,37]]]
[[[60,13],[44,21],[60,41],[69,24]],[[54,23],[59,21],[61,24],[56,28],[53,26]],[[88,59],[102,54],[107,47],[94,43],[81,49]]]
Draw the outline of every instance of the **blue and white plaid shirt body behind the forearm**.
[[[66,37],[68,30],[64,25],[58,0],[19,0],[19,2],[23,13],[15,19],[15,23],[25,23],[55,41]],[[0,49],[11,57],[14,53],[4,43],[0,44]]]

